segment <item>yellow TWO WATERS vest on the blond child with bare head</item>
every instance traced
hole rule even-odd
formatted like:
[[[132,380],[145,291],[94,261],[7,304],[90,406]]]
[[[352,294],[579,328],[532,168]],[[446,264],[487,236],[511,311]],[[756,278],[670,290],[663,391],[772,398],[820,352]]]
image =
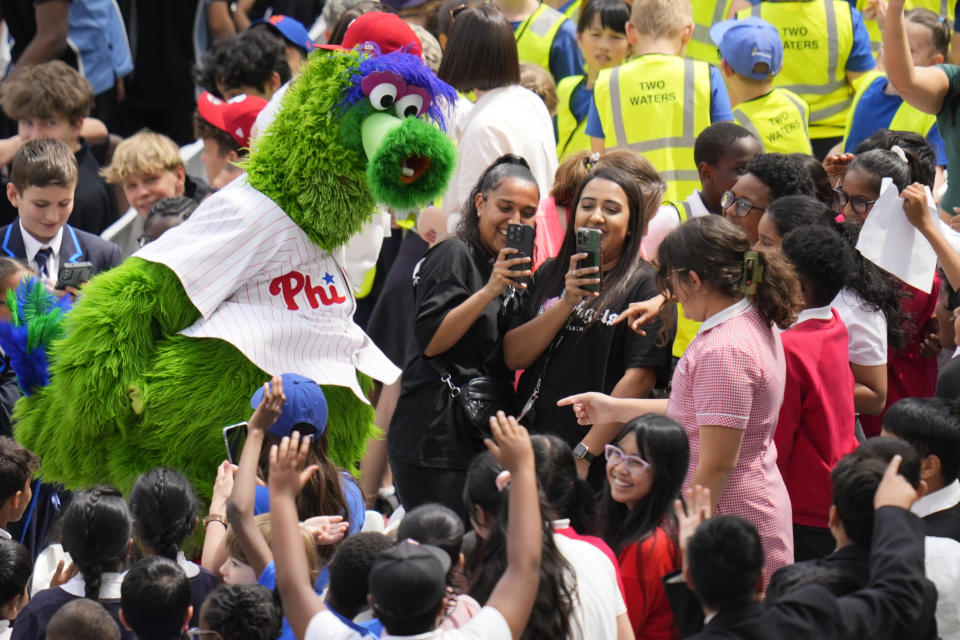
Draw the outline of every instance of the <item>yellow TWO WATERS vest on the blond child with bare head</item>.
[[[652,53],[604,69],[593,88],[604,146],[642,153],[667,183],[665,200],[700,187],[693,145],[710,125],[710,65]]]

